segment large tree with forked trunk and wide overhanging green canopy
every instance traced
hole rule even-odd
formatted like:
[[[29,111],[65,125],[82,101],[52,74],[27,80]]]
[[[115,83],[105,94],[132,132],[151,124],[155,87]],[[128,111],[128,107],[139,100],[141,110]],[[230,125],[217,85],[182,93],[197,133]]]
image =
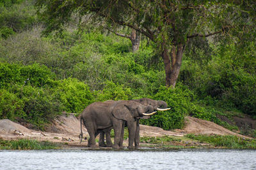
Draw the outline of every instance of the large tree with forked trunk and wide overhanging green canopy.
[[[61,29],[72,13],[78,13],[81,21],[90,15],[95,22],[104,20],[108,29],[126,26],[147,36],[163,58],[166,86],[173,87],[191,38],[255,30],[254,1],[37,0],[37,5],[47,23],[46,31]]]

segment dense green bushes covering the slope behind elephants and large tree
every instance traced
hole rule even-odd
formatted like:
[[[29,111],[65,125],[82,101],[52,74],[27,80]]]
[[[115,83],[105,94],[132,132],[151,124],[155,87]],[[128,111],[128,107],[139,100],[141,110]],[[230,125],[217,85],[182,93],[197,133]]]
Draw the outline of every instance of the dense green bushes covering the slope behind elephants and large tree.
[[[142,97],[172,108],[141,120],[164,129],[181,128],[186,115],[230,129],[236,127],[219,115],[256,117],[255,40],[195,38],[177,85],[166,88],[163,59],[147,39],[132,52],[129,39],[100,29],[73,26],[48,36],[42,30],[33,1],[0,1],[1,119],[43,129],[61,111],[79,114],[92,102]]]

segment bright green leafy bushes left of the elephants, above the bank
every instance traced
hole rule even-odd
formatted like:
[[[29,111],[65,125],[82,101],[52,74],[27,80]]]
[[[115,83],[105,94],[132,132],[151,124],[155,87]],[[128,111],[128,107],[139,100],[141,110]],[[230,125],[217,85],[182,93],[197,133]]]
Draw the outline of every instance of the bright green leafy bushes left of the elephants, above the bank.
[[[36,128],[44,129],[61,111],[81,112],[92,102],[86,84],[71,78],[56,81],[49,68],[36,63],[1,63],[0,77],[0,118],[27,121]]]

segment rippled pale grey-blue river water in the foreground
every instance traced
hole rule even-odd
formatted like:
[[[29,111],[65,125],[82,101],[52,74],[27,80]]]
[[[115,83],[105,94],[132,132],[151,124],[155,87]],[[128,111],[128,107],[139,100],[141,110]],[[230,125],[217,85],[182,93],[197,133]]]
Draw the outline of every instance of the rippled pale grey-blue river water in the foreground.
[[[256,169],[256,150],[0,150],[0,169]]]

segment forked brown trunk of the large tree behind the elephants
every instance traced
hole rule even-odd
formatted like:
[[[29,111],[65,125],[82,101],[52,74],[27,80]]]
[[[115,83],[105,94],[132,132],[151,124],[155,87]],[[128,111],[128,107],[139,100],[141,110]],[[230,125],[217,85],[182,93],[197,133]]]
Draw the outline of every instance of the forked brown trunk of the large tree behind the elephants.
[[[176,86],[176,82],[180,73],[183,51],[184,45],[182,44],[173,45],[170,54],[166,47],[164,47],[162,58],[164,61],[164,70],[166,75],[167,87],[172,86],[173,88],[175,88]],[[172,61],[170,61],[170,57],[172,58]]]

